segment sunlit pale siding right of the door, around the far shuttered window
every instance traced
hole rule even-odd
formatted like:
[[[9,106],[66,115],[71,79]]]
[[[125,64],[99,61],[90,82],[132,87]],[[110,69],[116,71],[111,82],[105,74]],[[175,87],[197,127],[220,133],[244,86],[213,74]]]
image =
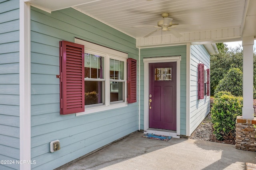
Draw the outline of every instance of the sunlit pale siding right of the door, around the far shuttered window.
[[[210,54],[203,45],[190,47],[190,134],[210,113],[210,96],[198,100],[198,64],[210,68]]]

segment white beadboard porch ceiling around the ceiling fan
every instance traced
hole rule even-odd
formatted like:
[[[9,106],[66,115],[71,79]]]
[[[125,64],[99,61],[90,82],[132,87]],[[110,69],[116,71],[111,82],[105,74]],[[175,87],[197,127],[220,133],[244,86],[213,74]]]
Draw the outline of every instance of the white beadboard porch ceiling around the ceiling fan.
[[[157,26],[157,22],[162,19],[162,12],[169,13],[168,18],[173,19],[172,23],[200,26],[200,28],[173,28],[179,33],[239,28],[241,35],[242,33],[246,36],[256,35],[256,0],[24,1],[48,12],[72,7],[137,39],[144,37],[156,28],[132,26]],[[248,16],[246,17],[246,15]],[[150,37],[161,35],[171,35],[171,33],[170,31],[157,31]]]

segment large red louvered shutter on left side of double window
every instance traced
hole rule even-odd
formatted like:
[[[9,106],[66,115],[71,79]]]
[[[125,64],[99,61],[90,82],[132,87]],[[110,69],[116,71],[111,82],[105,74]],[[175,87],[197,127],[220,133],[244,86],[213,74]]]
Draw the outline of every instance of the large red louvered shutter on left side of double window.
[[[60,41],[60,114],[84,111],[84,45]]]

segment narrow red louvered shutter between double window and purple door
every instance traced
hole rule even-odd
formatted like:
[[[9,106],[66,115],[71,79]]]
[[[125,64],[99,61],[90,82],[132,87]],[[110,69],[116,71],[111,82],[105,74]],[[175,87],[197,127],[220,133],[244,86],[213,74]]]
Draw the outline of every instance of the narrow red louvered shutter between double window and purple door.
[[[127,101],[128,103],[136,102],[136,63],[135,59],[128,58],[128,81],[127,81]]]

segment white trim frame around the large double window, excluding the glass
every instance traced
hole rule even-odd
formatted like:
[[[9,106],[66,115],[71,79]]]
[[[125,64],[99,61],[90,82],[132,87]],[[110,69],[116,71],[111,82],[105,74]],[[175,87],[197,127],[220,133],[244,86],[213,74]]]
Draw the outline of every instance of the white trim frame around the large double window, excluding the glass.
[[[100,45],[97,45],[94,43],[90,43],[90,42],[84,41],[82,39],[75,38],[75,43],[84,45],[84,53],[90,53],[90,54],[100,55],[100,56],[104,57],[104,80],[105,80],[105,87],[106,87],[105,88],[105,99],[104,99],[105,104],[100,105],[100,106],[95,105],[92,107],[86,107],[83,112],[76,113],[76,116],[128,106],[127,99],[126,99],[128,54],[120,52],[120,51],[116,51],[114,49],[110,49],[107,47],[103,47],[103,46],[100,46]],[[110,60],[109,59],[116,59],[116,60],[124,61],[124,81],[122,81],[122,82],[124,82],[124,102],[111,102],[110,103],[110,98],[108,97],[108,96],[110,96],[110,94],[109,94],[110,93],[110,75],[109,75],[109,71],[108,71],[108,70],[110,70],[110,65],[109,65]]]

